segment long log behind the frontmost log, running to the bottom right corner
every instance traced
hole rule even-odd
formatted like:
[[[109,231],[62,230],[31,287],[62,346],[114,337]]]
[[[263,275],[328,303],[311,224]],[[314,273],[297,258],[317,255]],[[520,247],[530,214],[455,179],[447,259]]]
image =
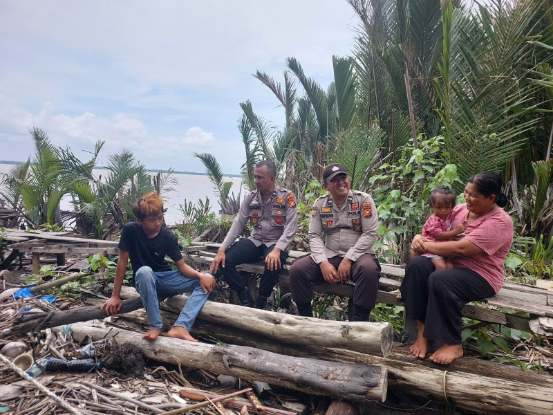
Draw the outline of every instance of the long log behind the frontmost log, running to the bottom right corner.
[[[162,311],[164,326],[170,327],[176,315]],[[125,320],[146,324],[146,313],[134,311]],[[482,414],[549,415],[553,413],[553,380],[520,369],[462,358],[449,366],[415,359],[404,345],[394,347],[388,358],[369,356],[344,349],[300,347],[232,329],[224,325],[196,320],[191,334],[207,341],[241,344],[289,356],[318,358],[335,362],[362,363],[388,369],[388,387],[415,396],[453,402],[458,407]]]

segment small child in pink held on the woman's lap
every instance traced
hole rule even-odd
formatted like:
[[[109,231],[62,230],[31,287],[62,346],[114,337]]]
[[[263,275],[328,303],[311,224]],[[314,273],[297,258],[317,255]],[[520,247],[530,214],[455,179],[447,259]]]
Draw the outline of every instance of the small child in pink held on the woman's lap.
[[[459,223],[457,228],[451,229],[451,212],[456,205],[456,196],[449,187],[439,187],[430,192],[429,205],[434,213],[430,215],[422,227],[423,237],[431,241],[445,242],[465,232],[463,223]],[[417,254],[411,250],[411,256],[413,255]],[[421,255],[429,258],[437,271],[453,268],[451,258],[440,257],[440,255],[434,255],[430,252],[424,252]]]

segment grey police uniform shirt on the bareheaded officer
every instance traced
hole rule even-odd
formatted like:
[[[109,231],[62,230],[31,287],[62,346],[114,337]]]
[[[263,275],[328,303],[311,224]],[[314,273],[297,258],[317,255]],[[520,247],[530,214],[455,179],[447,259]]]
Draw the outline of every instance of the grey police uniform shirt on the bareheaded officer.
[[[275,248],[287,250],[296,234],[297,219],[296,198],[290,190],[274,186],[266,205],[261,200],[261,192],[255,190],[245,196],[221,246],[229,248],[250,221],[253,231],[248,239],[255,246],[264,243],[265,246],[276,245]]]

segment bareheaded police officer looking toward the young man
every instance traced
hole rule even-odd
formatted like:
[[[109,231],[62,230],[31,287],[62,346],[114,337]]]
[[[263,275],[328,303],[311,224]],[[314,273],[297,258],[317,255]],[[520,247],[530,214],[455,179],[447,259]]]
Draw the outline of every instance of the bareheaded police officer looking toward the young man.
[[[229,287],[236,291],[242,306],[264,308],[279,279],[280,270],[288,255],[288,247],[297,229],[296,198],[290,190],[274,184],[277,169],[274,163],[263,160],[255,165],[254,183],[257,190],[248,194],[234,218],[209,270],[221,270]],[[236,238],[250,221],[253,232],[247,239]],[[236,266],[265,258],[265,273],[259,284],[259,295],[254,302]],[[220,266],[221,265],[221,266]]]

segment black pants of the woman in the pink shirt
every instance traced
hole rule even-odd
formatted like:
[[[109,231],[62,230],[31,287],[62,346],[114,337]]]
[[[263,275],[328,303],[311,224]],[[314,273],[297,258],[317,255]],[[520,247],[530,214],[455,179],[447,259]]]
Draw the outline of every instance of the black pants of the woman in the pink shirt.
[[[463,305],[495,295],[475,271],[435,271],[430,259],[420,256],[409,260],[400,291],[406,314],[424,323],[424,338],[445,344],[461,344]]]

